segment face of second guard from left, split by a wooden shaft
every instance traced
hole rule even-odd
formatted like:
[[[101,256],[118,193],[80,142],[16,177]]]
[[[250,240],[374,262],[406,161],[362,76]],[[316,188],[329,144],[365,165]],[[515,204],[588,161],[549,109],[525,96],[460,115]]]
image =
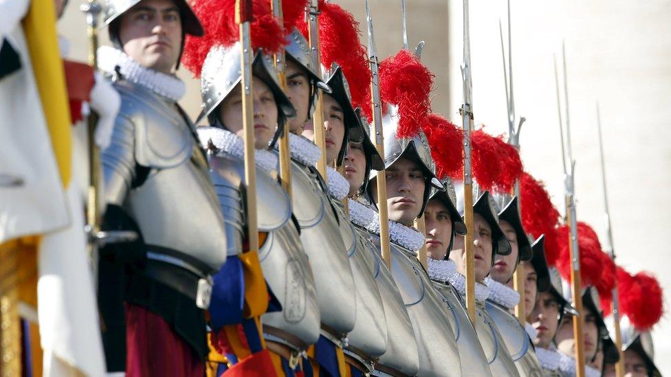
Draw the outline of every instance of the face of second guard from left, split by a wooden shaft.
[[[265,149],[275,135],[277,127],[277,104],[275,96],[263,80],[254,76],[252,82],[254,98],[254,148]],[[219,119],[230,132],[244,137],[242,91],[238,84],[219,106]]]

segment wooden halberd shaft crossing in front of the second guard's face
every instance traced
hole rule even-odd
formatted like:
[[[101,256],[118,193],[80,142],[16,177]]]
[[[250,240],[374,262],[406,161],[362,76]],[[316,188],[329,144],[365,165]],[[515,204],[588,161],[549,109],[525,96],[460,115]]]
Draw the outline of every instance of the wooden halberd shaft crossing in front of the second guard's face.
[[[256,165],[254,163],[254,98],[252,95],[252,60],[254,52],[250,34],[252,1],[235,1],[235,19],[240,29],[240,67],[242,84],[243,133],[245,142],[245,182],[247,182],[247,230],[250,251],[259,251],[259,226],[256,218]]]

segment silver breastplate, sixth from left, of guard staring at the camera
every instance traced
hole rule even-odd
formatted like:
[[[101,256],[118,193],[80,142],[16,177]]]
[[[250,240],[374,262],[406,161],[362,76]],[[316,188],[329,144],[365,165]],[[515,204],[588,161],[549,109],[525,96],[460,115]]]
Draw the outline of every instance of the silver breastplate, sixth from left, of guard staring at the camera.
[[[415,332],[419,351],[417,376],[461,376],[456,337],[443,303],[419,260],[392,243],[391,273]]]

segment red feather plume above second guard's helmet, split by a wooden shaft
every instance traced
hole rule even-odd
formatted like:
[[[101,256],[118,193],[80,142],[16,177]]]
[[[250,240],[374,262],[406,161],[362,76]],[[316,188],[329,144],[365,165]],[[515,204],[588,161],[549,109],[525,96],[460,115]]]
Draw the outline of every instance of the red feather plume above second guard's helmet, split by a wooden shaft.
[[[181,62],[195,77],[200,77],[203,62],[210,49],[217,45],[229,46],[239,40],[235,23],[235,0],[202,0],[192,4],[193,12],[205,29],[201,37],[186,36]],[[272,54],[285,43],[285,34],[270,9],[270,1],[254,0],[252,47]]]

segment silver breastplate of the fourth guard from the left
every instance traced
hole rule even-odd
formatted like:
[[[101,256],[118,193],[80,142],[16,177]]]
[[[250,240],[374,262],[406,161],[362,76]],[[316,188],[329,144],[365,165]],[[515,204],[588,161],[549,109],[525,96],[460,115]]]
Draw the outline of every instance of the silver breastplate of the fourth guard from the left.
[[[384,320],[384,305],[380,290],[377,288],[375,276],[380,264],[375,257],[364,249],[362,236],[355,231],[349,217],[344,216],[342,204],[333,201],[340,220],[343,240],[352,240],[353,247],[349,261],[354,275],[357,300],[356,323],[354,329],[347,334],[351,351],[371,361],[384,354],[387,343],[387,324]],[[349,243],[349,242],[348,242]],[[348,244],[346,243],[346,245]]]

